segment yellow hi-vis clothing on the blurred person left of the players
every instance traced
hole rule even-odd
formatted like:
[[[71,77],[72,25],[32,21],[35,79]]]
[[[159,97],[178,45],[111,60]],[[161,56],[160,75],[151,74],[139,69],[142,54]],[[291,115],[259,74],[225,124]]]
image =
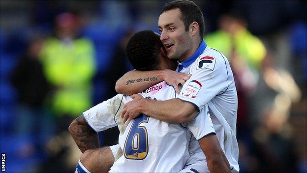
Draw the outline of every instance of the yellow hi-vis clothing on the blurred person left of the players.
[[[65,44],[48,38],[40,53],[47,80],[56,87],[51,98],[58,115],[79,116],[92,106],[92,77],[95,71],[94,47],[79,38]]]

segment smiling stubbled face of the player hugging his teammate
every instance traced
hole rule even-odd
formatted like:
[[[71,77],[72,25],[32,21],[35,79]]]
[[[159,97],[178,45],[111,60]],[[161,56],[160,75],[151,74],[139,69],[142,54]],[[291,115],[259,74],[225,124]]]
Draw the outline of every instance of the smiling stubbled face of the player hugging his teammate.
[[[184,61],[194,53],[193,39],[189,31],[185,31],[180,9],[163,12],[158,21],[161,41],[170,59]]]

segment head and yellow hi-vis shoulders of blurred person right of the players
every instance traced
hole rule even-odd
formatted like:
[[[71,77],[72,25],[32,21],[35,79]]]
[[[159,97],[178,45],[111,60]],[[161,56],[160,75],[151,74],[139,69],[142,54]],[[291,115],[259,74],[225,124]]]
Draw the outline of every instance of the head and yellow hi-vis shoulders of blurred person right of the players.
[[[235,49],[246,63],[259,69],[266,55],[266,49],[259,38],[247,30],[246,22],[236,14],[226,14],[219,20],[219,30],[205,36],[209,46],[218,49],[226,57],[231,57]]]

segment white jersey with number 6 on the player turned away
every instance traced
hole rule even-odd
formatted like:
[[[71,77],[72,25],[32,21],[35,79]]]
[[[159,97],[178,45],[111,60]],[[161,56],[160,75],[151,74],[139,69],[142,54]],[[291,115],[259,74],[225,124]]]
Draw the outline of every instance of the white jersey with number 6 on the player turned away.
[[[150,87],[141,95],[156,100],[176,98],[174,88],[165,82]],[[110,172],[179,172],[190,157],[188,147],[192,134],[200,139],[215,133],[208,105],[187,125],[166,123],[142,115],[132,120],[125,130],[120,112],[123,104],[131,100],[129,96],[119,94],[84,112],[84,117],[96,132],[119,125],[123,155]],[[195,141],[193,145],[199,148]],[[200,148],[197,151],[202,153]],[[204,154],[199,154],[197,159],[205,160]]]

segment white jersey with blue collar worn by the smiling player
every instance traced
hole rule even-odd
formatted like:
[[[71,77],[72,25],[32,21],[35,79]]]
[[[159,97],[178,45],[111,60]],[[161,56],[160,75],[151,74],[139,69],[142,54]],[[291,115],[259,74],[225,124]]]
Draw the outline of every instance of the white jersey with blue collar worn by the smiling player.
[[[179,63],[177,71],[192,74],[184,83],[178,99],[195,104],[199,110],[209,106],[221,148],[232,172],[239,172],[236,139],[238,98],[227,58],[202,41],[194,55]]]

